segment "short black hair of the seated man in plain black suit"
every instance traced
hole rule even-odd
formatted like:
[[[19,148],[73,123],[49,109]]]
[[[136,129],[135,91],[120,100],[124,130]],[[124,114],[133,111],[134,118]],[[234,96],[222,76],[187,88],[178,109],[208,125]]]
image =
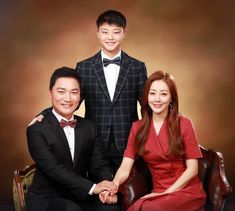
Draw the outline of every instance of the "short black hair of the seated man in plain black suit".
[[[55,85],[57,79],[59,78],[74,78],[77,80],[79,86],[80,86],[80,78],[76,71],[70,67],[61,67],[56,69],[50,79],[49,89],[52,90],[53,86]]]

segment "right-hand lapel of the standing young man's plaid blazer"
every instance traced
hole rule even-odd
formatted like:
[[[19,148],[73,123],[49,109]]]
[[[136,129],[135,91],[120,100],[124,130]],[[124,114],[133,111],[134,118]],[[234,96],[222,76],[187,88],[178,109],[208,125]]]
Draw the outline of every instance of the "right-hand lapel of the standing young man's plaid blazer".
[[[118,76],[118,81],[117,81],[117,85],[116,85],[116,89],[115,89],[115,93],[114,93],[114,98],[113,98],[113,102],[115,103],[115,101],[117,100],[123,85],[126,81],[127,75],[129,73],[131,64],[129,62],[128,59],[128,55],[126,55],[123,51],[122,51],[122,55],[121,55],[121,66],[120,66],[120,71],[119,71],[119,76]]]

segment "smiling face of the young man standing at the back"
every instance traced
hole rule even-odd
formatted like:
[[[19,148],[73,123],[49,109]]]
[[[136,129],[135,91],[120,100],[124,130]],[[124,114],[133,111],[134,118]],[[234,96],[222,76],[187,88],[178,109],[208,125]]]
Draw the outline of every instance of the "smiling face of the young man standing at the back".
[[[115,24],[102,24],[98,31],[97,37],[100,41],[104,53],[109,56],[115,56],[121,49],[121,43],[125,38],[125,30]]]

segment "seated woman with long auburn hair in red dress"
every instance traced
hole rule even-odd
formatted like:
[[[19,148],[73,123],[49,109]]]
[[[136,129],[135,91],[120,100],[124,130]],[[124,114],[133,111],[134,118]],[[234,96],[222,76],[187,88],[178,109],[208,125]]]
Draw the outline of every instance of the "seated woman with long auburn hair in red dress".
[[[202,155],[192,122],[178,112],[177,88],[170,74],[157,71],[148,78],[141,112],[143,118],[132,125],[113,181],[122,184],[141,155],[152,174],[153,190],[128,211],[204,210],[206,194],[197,176]]]

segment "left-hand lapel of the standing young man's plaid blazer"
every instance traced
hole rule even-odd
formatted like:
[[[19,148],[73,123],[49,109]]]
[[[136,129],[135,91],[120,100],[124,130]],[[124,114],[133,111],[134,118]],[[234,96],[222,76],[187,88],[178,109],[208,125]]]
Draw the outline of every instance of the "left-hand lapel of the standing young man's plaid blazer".
[[[103,89],[103,92],[104,92],[106,98],[111,102],[108,88],[107,88],[107,84],[106,84],[106,80],[105,80],[105,76],[104,76],[103,64],[101,62],[101,53],[99,52],[98,54],[96,54],[94,59],[95,59],[95,61],[93,64],[93,70],[97,76],[98,82],[99,82],[101,88]]]

